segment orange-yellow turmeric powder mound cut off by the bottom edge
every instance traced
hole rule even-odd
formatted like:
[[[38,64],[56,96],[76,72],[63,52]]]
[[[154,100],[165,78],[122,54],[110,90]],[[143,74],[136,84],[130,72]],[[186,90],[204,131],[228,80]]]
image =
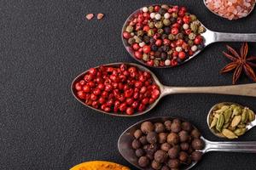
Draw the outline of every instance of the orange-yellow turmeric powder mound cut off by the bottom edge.
[[[70,170],[130,170],[130,168],[110,161],[86,161]]]

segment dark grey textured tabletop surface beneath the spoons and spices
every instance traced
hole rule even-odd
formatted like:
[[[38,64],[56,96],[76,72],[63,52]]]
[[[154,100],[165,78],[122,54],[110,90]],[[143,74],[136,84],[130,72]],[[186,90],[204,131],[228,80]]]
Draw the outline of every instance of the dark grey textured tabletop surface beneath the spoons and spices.
[[[234,101],[256,111],[249,97],[177,94],[160,101],[145,116],[104,116],[79,104],[70,92],[74,77],[92,66],[128,61],[120,30],[135,9],[150,3],[186,5],[214,31],[256,32],[256,11],[229,21],[205,8],[202,0],[0,1],[0,167],[1,169],[68,169],[82,161],[108,160],[132,167],[117,149],[126,127],[151,116],[180,116],[219,140],[207,129],[207,111]],[[103,20],[85,14],[104,13]],[[173,69],[156,70],[161,82],[175,86],[230,85],[231,74],[218,71],[229,60],[225,43],[207,47],[196,59]],[[240,43],[229,43],[239,47]],[[256,55],[256,44],[250,43]],[[242,78],[240,83],[249,82]],[[256,129],[240,140],[256,140]],[[256,155],[211,152],[195,169],[255,169]]]

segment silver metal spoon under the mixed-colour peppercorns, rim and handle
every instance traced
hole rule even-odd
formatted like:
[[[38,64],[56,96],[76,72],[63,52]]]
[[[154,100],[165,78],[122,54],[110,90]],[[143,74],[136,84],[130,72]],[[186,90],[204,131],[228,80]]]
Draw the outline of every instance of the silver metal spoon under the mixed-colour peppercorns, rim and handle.
[[[160,5],[160,4],[159,4]],[[133,12],[127,20],[125,20],[125,24],[122,28],[122,33],[125,31],[125,27],[128,25],[128,22],[132,20],[133,16],[135,14],[138,14],[142,11],[142,8],[137,9],[135,12]],[[201,23],[201,22],[200,22]],[[201,26],[203,24],[201,23]],[[256,33],[228,33],[228,32],[218,32],[218,31],[211,31],[205,27],[206,31],[201,34],[202,37],[204,37],[204,48],[207,47],[209,44],[213,42],[256,42]],[[133,59],[136,59],[138,62],[140,62],[143,65],[146,65],[143,60],[137,59],[134,56],[134,51],[131,49],[130,44],[125,40],[123,35],[121,35],[123,44],[125,46],[126,51],[131,55]],[[197,52],[195,52],[194,55],[189,56],[188,59],[185,59],[183,63],[189,61],[190,59],[193,59],[197,54],[199,54],[204,48],[199,49]],[[149,65],[147,65],[149,66]],[[154,68],[170,68],[171,66],[151,66]]]

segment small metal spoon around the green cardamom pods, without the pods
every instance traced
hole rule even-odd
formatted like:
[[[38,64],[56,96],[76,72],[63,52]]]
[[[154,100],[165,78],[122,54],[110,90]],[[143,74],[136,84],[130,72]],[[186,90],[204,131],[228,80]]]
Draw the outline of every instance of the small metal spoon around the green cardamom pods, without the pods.
[[[211,127],[210,118],[212,116],[213,111],[218,110],[218,108],[220,108],[223,105],[239,105],[239,104],[236,104],[236,103],[233,103],[233,102],[222,102],[222,103],[213,105],[211,110],[209,111],[208,116],[207,116],[207,125],[208,125],[209,129],[211,130],[211,132],[215,136],[218,136],[219,138],[226,138],[226,137],[224,137],[224,135],[222,135],[221,133],[216,133],[212,128],[210,128]],[[242,108],[244,107],[242,105],[239,105],[239,106],[241,106]],[[256,119],[253,122],[250,122],[249,124],[247,124],[247,127],[246,127],[247,131],[250,130],[251,128],[255,127],[255,126],[256,126]]]

